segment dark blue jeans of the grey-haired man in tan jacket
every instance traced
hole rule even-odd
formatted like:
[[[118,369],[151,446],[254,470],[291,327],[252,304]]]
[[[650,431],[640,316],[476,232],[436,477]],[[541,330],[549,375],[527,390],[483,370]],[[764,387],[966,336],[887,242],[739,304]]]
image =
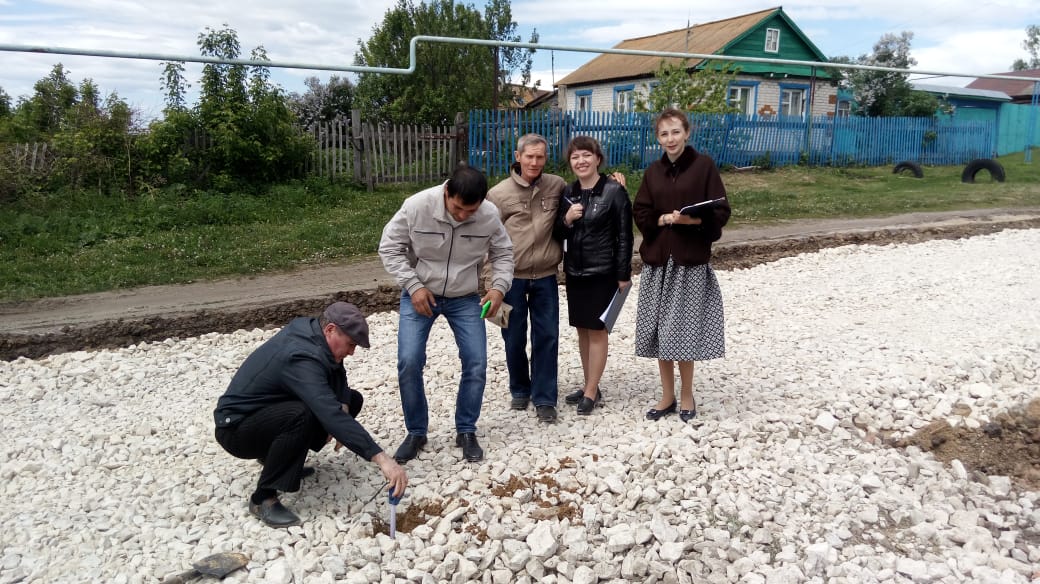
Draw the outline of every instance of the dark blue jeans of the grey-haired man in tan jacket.
[[[535,405],[556,405],[560,352],[560,286],[556,274],[538,280],[514,277],[505,294],[513,307],[502,328],[510,394]],[[527,361],[527,315],[530,314],[530,362]]]

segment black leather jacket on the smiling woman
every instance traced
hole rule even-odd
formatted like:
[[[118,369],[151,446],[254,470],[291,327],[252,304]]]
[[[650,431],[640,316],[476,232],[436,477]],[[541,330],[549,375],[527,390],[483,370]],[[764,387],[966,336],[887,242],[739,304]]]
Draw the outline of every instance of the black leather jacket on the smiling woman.
[[[591,194],[581,195],[575,181],[564,187],[552,235],[564,242],[567,275],[612,275],[618,282],[632,278],[632,204],[625,187],[600,174]],[[584,214],[567,227],[564,217],[580,203]]]

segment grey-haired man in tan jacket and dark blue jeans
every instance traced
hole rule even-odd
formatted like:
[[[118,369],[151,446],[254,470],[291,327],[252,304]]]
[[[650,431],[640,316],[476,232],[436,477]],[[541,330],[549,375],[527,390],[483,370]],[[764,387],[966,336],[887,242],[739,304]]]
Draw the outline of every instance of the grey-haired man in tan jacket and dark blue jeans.
[[[560,287],[556,269],[563,257],[552,238],[552,222],[566,183],[545,175],[547,142],[538,134],[517,141],[510,177],[488,191],[513,240],[513,285],[505,303],[513,307],[502,328],[510,371],[513,409],[535,403],[538,419],[555,422],[560,346]],[[531,355],[527,359],[527,316],[530,315]]]

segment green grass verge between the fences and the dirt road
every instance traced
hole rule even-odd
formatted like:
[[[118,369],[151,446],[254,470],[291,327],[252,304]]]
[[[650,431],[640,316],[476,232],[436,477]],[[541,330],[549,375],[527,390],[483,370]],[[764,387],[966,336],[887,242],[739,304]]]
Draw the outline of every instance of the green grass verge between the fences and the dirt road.
[[[1007,182],[960,182],[962,166],[926,167],[921,180],[878,168],[791,167],[723,174],[731,225],[912,211],[1040,207],[1040,160],[1000,159]],[[629,192],[640,176],[629,175]],[[494,179],[492,180],[494,182]],[[168,189],[137,198],[78,192],[0,205],[0,301],[187,283],[375,253],[383,225],[430,185],[373,193],[309,180],[259,194]]]

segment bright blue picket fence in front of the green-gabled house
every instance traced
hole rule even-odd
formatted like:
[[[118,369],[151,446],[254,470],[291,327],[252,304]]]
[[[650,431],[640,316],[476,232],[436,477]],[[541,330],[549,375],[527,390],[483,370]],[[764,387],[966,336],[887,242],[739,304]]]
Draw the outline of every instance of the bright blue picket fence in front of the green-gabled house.
[[[508,174],[517,138],[535,132],[562,163],[567,142],[589,135],[603,147],[607,166],[646,168],[660,157],[650,113],[558,110],[469,113],[469,164],[491,176]],[[691,143],[720,165],[879,166],[904,160],[963,164],[993,156],[993,124],[928,117],[770,117],[691,114]]]

